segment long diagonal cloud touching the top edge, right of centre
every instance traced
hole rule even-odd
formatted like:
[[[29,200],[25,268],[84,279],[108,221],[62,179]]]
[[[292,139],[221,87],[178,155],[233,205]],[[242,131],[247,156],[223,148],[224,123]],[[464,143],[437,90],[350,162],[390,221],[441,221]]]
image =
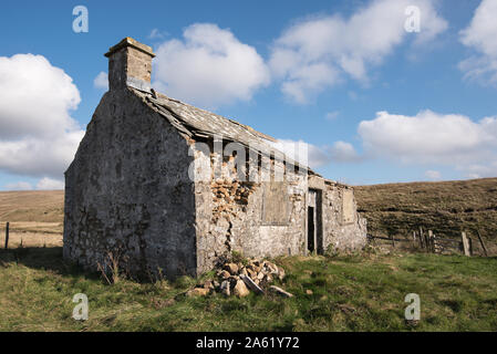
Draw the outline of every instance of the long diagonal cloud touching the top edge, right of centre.
[[[408,6],[421,10],[420,33],[404,29]],[[366,83],[369,66],[380,64],[407,35],[420,45],[446,29],[432,0],[374,0],[348,19],[335,14],[292,25],[276,41],[269,65],[282,80],[282,92],[304,104],[343,77]]]

